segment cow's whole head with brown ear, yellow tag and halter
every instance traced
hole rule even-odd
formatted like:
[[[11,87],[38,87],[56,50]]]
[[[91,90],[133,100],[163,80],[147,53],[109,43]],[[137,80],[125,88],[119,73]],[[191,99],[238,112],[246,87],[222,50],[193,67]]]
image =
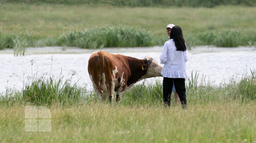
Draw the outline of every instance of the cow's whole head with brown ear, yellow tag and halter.
[[[155,61],[155,59],[145,56],[144,64],[142,65],[142,70],[147,70],[145,78],[151,78],[156,76],[162,76],[161,70],[162,67]]]

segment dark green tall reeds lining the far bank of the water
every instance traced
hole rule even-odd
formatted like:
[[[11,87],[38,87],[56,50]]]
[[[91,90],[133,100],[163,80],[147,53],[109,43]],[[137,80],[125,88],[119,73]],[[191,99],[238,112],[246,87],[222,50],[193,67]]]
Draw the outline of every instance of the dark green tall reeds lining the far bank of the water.
[[[76,46],[81,48],[103,47],[143,47],[162,45],[165,36],[156,36],[139,27],[94,27],[88,30],[70,31],[58,38],[37,38],[30,34],[0,33],[0,47],[14,48],[14,55],[24,55],[26,47],[38,46]],[[185,35],[188,48],[199,45],[216,47],[238,47],[256,45],[256,35],[251,32],[241,32],[240,29],[204,32],[195,35]]]

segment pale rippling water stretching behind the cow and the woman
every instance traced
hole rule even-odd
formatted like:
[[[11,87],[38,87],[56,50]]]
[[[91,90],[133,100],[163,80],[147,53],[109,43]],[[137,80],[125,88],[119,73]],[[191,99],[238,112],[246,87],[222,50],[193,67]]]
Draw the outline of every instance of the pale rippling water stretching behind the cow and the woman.
[[[104,48],[103,51],[139,59],[149,55],[160,63],[161,49],[162,47]],[[11,53],[12,50],[0,51],[0,92],[4,91],[7,86],[22,88],[22,80],[26,82],[32,75],[40,77],[46,73],[46,76],[49,76],[51,73],[57,77],[61,73],[64,78],[69,78],[74,71],[77,74],[73,76],[73,80],[79,79],[80,85],[88,83],[88,88],[91,88],[87,65],[89,57],[94,51],[98,50],[66,48],[63,51],[62,47],[29,48],[26,56],[18,57]],[[206,79],[214,81],[214,84],[219,84],[224,80],[228,81],[233,75],[239,78],[246,71],[250,72],[250,69],[256,69],[256,50],[254,48],[196,47],[189,51],[189,55],[187,71],[190,77],[192,70],[193,73],[197,71],[199,78],[206,76]],[[33,66],[31,60],[34,62]],[[161,80],[162,78],[149,80],[155,79]]]

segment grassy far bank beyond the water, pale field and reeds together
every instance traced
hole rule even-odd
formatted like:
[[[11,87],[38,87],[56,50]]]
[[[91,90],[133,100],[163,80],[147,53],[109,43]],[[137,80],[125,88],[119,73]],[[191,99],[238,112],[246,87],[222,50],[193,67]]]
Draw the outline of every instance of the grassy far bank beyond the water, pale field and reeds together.
[[[107,43],[111,39],[106,35],[107,33],[101,33],[100,29],[102,27],[111,31],[113,35],[120,34],[117,33],[117,29],[123,28],[125,33],[121,36],[133,38],[134,35],[129,31],[134,29],[134,31],[142,32],[139,38],[146,41],[143,45],[139,42],[127,44],[135,41],[134,39],[129,39],[127,40],[129,42],[116,45],[107,43],[103,47],[163,45],[168,39],[165,32],[165,27],[168,23],[181,26],[187,45],[190,47],[196,45],[214,45],[218,47],[254,46],[256,43],[256,31],[254,28],[254,25],[256,25],[254,13],[256,11],[254,7],[132,8],[4,3],[0,5],[0,13],[5,13],[0,17],[0,49],[6,47],[14,48],[15,45],[18,47],[17,45],[19,44],[15,43],[17,41],[21,43],[21,48],[18,49],[23,49],[22,47],[26,46],[63,46],[67,45],[63,37],[68,37],[68,35],[74,33],[80,33],[79,36],[81,38],[68,39],[77,43],[77,45],[72,46],[100,48],[104,44],[99,40],[95,40],[94,36],[99,37],[99,35],[105,34],[102,37],[100,36],[103,39],[103,43]],[[177,13],[179,14],[177,15]],[[94,36],[81,34],[90,33],[94,30]],[[151,39],[147,40],[147,38]],[[122,41],[122,38],[117,40]],[[91,41],[91,43],[88,41]]]

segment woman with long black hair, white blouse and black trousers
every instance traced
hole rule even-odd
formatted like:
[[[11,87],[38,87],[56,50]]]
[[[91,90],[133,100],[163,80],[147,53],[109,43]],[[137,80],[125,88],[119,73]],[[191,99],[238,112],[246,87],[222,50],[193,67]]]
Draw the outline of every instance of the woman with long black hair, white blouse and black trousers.
[[[170,106],[170,94],[173,84],[180,97],[182,108],[186,108],[185,78],[188,78],[186,62],[188,50],[183,38],[182,29],[179,26],[172,27],[170,40],[166,41],[160,56],[161,64],[164,64],[161,74],[163,80],[164,104]]]

